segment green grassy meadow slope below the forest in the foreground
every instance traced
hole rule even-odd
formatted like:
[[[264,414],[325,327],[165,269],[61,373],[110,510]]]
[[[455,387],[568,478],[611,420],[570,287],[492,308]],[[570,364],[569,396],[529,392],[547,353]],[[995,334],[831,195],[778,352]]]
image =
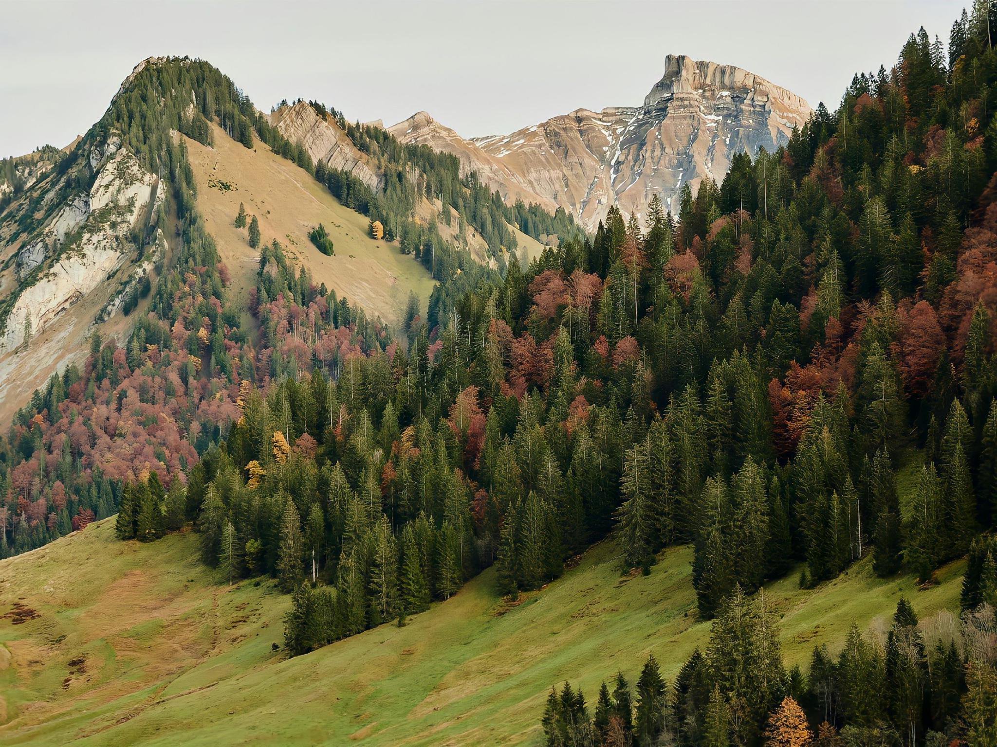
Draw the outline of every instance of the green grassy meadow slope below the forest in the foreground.
[[[287,600],[271,582],[215,585],[192,560],[194,535],[141,545],[113,528],[0,563],[0,744],[535,744],[552,683],[591,699],[649,651],[671,681],[709,635],[690,549],[621,578],[606,542],[518,606],[487,572],[405,627],[285,659],[271,644]],[[776,582],[786,658],[806,663],[852,621],[878,626],[901,594],[922,619],[954,610],[961,574],[952,564],[918,591],[866,560],[816,590]]]

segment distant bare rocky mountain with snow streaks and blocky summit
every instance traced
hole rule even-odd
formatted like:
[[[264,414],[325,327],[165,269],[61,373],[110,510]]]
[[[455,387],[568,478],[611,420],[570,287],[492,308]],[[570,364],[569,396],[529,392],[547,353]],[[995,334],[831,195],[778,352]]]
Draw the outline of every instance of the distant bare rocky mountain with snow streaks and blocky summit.
[[[678,212],[681,188],[723,180],[735,153],[770,152],[810,118],[802,98],[731,65],[665,58],[639,107],[579,109],[508,135],[466,139],[425,112],[389,128],[461,158],[508,201],[563,207],[589,230],[609,206],[643,216],[660,194]]]

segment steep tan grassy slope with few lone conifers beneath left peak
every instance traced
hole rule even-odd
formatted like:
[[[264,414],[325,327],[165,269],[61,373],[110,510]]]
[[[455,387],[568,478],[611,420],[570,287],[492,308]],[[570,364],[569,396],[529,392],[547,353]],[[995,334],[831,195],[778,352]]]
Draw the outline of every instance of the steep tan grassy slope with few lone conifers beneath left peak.
[[[187,148],[197,204],[231,273],[237,303],[244,302],[254,285],[259,261],[246,230],[234,227],[239,203],[257,217],[265,242],[277,239],[289,258],[307,266],[316,283],[356,301],[368,314],[394,323],[405,311],[410,292],[424,303],[429,298],[434,285],[429,272],[397,246],[370,238],[367,218],[341,205],[305,170],[264,143],[257,141],[250,150],[217,125],[212,129],[212,147],[187,139]],[[308,239],[319,223],[333,241],[331,257]]]

